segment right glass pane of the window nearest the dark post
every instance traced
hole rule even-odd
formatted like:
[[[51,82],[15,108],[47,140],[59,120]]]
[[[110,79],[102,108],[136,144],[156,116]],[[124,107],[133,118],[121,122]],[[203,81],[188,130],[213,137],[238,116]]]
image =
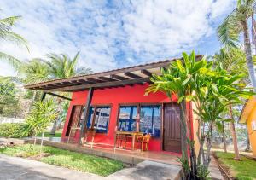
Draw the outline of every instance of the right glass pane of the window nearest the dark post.
[[[96,132],[108,132],[110,107],[96,107],[94,129]]]

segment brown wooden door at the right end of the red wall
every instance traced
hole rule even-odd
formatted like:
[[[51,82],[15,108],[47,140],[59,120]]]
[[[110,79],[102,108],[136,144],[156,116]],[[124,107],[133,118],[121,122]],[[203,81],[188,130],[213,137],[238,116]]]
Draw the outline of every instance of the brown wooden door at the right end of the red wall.
[[[175,113],[175,110],[178,113]],[[164,106],[164,134],[163,149],[165,151],[181,153],[181,125],[180,109],[177,104]]]

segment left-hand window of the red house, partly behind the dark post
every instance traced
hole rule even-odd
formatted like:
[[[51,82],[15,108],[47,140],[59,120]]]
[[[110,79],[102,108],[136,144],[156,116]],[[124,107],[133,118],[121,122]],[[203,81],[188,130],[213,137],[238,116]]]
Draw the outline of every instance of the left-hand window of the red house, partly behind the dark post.
[[[90,107],[89,118],[87,121],[87,128],[94,129],[96,130],[96,132],[107,133],[109,115],[110,115],[110,107],[108,106]]]

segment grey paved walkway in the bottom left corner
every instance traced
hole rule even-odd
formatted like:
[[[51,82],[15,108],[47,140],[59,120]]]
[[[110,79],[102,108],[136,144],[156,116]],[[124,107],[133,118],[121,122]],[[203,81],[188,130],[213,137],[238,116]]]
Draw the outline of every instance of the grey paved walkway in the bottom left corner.
[[[93,179],[102,177],[95,174],[73,171],[67,168],[48,165],[35,160],[26,160],[0,154],[0,179],[43,180],[43,179]]]

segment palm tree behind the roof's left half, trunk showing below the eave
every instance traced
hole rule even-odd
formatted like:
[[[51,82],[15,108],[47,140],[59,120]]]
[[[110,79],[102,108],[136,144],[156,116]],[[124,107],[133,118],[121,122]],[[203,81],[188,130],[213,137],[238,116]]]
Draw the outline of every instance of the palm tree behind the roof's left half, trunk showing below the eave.
[[[70,58],[68,55],[56,55],[56,54],[49,54],[48,55],[49,61],[41,60],[44,62],[46,66],[48,66],[48,73],[49,78],[69,78],[76,75],[82,74],[89,74],[92,73],[92,70],[88,67],[77,67],[78,60],[79,60],[79,52],[73,57]],[[58,111],[61,113],[62,109],[62,100],[61,98],[58,99]],[[50,134],[54,135],[57,121],[55,120],[54,125],[50,131]]]

